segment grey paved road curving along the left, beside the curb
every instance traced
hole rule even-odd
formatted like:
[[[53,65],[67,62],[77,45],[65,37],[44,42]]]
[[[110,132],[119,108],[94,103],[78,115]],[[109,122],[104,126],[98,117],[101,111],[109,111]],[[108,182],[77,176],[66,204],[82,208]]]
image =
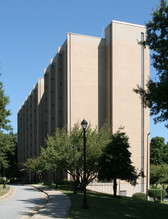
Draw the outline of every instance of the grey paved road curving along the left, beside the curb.
[[[31,186],[13,185],[15,194],[0,202],[0,219],[19,219],[41,201],[41,193]]]

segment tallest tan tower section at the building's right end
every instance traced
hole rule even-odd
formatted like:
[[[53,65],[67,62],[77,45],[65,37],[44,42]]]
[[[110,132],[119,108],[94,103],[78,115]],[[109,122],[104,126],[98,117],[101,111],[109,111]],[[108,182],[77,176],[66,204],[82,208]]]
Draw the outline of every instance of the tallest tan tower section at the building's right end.
[[[138,44],[144,40],[144,26],[113,21],[107,38],[107,115],[112,132],[121,126],[129,136],[133,165],[146,173],[146,146],[149,133],[149,109],[144,109],[137,85],[145,86],[149,76],[149,49]],[[145,189],[141,179],[141,191]]]

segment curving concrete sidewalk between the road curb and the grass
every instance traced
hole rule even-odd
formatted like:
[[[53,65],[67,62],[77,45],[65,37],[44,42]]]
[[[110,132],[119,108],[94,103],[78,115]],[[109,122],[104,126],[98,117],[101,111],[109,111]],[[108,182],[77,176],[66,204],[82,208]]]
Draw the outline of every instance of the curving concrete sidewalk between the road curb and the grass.
[[[42,185],[34,185],[48,196],[48,203],[35,214],[32,219],[67,218],[68,209],[71,205],[68,196],[60,191],[51,190]]]

